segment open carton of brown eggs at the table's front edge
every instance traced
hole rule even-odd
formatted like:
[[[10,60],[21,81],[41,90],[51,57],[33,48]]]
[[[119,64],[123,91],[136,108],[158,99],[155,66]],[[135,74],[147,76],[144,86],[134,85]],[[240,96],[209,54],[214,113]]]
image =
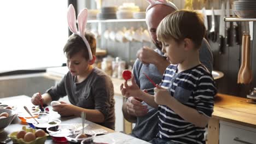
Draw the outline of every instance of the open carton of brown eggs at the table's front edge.
[[[15,131],[8,135],[13,143],[19,144],[43,144],[48,136],[42,129],[22,127],[22,130]]]

